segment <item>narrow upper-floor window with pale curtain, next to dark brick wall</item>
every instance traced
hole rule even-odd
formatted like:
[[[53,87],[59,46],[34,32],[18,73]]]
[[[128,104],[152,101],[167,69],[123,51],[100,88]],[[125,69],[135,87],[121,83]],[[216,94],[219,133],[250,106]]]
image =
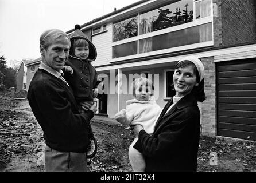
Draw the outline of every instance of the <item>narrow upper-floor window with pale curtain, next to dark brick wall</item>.
[[[196,3],[196,19],[211,16],[211,0],[197,1]]]

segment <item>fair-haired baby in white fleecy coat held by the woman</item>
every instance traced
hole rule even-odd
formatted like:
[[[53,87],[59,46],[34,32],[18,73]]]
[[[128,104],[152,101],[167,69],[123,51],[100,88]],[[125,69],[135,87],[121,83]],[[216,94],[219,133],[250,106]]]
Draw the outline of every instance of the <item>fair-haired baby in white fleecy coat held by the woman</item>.
[[[133,82],[134,99],[126,101],[126,109],[115,114],[115,120],[122,125],[141,125],[147,133],[153,133],[154,125],[161,113],[161,108],[156,104],[153,96],[154,85],[147,78],[138,78]],[[146,163],[143,155],[133,148],[138,137],[129,147],[129,160],[134,172],[143,172]]]

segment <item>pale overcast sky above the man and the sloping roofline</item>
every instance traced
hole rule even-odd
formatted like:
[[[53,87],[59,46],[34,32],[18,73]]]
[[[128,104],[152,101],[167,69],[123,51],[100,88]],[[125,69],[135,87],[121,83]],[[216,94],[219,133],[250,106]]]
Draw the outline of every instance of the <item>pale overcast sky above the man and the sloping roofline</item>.
[[[0,56],[7,66],[39,58],[39,37],[46,29],[68,31],[76,24],[139,0],[0,0]]]

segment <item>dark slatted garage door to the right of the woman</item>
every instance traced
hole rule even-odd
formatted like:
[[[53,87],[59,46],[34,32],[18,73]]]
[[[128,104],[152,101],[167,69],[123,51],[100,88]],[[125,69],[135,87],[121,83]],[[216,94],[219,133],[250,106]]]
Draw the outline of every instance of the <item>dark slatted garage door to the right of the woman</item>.
[[[256,140],[256,58],[216,65],[218,136]]]

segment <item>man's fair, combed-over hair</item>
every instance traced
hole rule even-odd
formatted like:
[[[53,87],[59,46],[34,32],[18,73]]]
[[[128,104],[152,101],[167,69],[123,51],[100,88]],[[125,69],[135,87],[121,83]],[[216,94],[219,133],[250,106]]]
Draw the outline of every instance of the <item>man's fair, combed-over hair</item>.
[[[41,34],[39,42],[44,49],[48,49],[48,47],[52,44],[52,41],[60,37],[67,37],[68,40],[70,40],[68,34],[64,33],[64,31],[59,29],[49,29]]]

